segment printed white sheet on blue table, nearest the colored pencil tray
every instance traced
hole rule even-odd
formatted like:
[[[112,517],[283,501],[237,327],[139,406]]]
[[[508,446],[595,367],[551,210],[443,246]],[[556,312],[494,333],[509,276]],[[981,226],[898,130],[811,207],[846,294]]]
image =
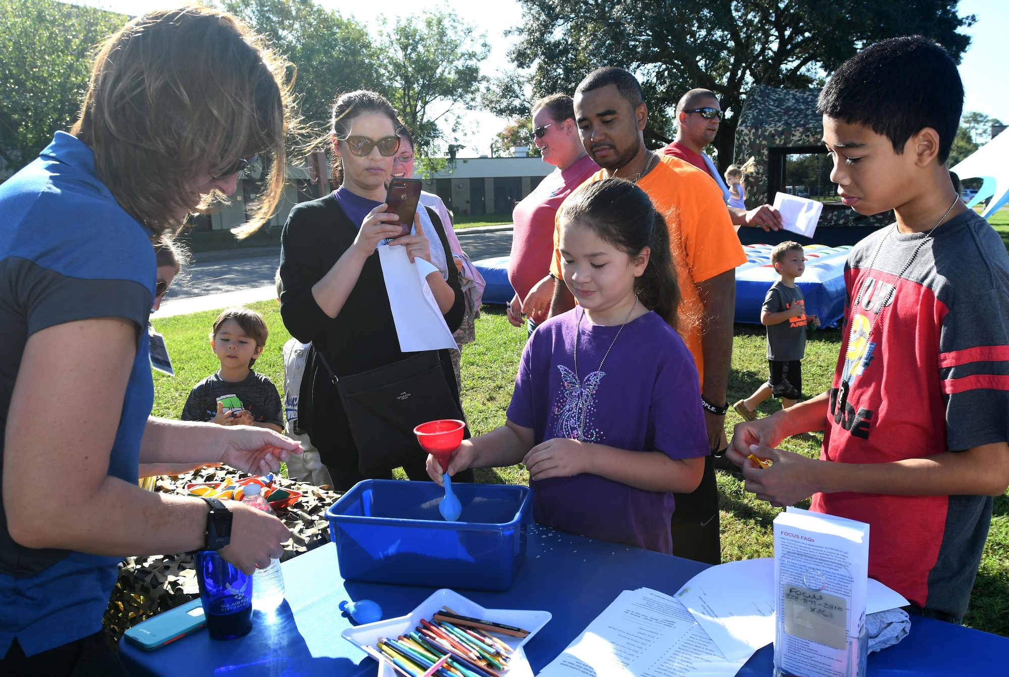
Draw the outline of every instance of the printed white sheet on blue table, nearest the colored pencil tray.
[[[625,590],[541,677],[732,677],[728,661],[677,600],[649,588]]]

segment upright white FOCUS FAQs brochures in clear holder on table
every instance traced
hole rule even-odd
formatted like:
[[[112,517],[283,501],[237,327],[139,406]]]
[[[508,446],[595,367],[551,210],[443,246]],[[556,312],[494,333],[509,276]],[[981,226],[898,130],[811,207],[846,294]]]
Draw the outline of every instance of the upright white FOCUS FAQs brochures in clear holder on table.
[[[865,625],[869,525],[789,510],[774,520],[775,667],[846,677]]]

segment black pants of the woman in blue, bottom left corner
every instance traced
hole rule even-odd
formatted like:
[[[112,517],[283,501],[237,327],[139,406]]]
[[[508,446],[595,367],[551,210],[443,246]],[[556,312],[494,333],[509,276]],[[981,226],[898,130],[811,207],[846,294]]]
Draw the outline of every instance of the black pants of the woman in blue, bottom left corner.
[[[14,640],[0,661],[4,677],[129,677],[119,656],[109,648],[105,631],[27,657]]]

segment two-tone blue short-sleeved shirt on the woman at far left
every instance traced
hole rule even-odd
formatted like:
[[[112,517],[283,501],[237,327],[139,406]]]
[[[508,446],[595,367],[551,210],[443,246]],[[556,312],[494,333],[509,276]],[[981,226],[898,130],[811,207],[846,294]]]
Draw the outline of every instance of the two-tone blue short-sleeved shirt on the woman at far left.
[[[143,331],[156,276],[150,232],[96,177],[91,148],[64,132],[0,185],[0,418],[7,420],[32,334],[91,318],[130,320],[137,351],[123,401],[109,403],[120,410],[120,421],[108,474],[136,483],[154,401]],[[62,402],[59,391],[52,402],[74,416],[74,403]],[[0,434],[0,459],[3,439]],[[40,500],[59,500],[61,487],[51,486],[51,477],[23,480],[49,486]],[[10,538],[2,501],[0,520],[0,656],[14,638],[33,656],[100,631],[120,558],[24,548]]]

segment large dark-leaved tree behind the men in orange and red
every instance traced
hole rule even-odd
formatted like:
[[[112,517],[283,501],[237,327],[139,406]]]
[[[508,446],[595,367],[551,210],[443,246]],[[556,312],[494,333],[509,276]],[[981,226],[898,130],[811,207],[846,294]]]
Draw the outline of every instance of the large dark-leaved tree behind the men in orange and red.
[[[649,104],[646,142],[672,140],[670,112],[694,87],[715,92],[726,111],[714,146],[724,170],[739,114],[754,85],[822,83],[862,46],[894,35],[938,40],[959,63],[971,38],[958,29],[958,0],[521,0],[520,41],[510,59],[531,70],[536,96],[572,94],[592,69],[637,74]],[[528,114],[528,113],[527,113]]]

